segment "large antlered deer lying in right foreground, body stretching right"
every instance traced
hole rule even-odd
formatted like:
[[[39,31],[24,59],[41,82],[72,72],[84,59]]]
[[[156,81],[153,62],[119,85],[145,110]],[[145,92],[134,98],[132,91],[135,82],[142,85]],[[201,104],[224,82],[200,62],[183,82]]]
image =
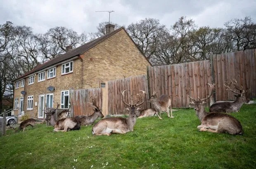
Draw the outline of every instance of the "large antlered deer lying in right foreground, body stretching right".
[[[225,113],[207,113],[204,108],[205,100],[209,99],[213,94],[215,84],[209,84],[211,89],[211,94],[206,99],[198,100],[191,97],[189,92],[189,97],[193,101],[190,103],[194,105],[194,110],[196,110],[197,117],[199,118],[201,125],[197,126],[199,131],[208,131],[212,133],[229,133],[229,134],[243,134],[243,129],[241,123],[231,115]],[[191,88],[191,87],[190,87]],[[190,89],[189,89],[190,90]]]

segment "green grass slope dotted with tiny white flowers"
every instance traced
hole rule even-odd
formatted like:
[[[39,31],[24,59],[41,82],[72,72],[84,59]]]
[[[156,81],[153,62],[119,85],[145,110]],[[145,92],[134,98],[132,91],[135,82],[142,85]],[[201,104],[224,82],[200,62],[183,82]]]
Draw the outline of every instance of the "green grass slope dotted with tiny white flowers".
[[[200,132],[193,109],[178,109],[173,119],[137,119],[134,131],[93,136],[92,126],[52,132],[38,124],[0,137],[0,168],[256,168],[256,104],[232,113],[244,135]]]

